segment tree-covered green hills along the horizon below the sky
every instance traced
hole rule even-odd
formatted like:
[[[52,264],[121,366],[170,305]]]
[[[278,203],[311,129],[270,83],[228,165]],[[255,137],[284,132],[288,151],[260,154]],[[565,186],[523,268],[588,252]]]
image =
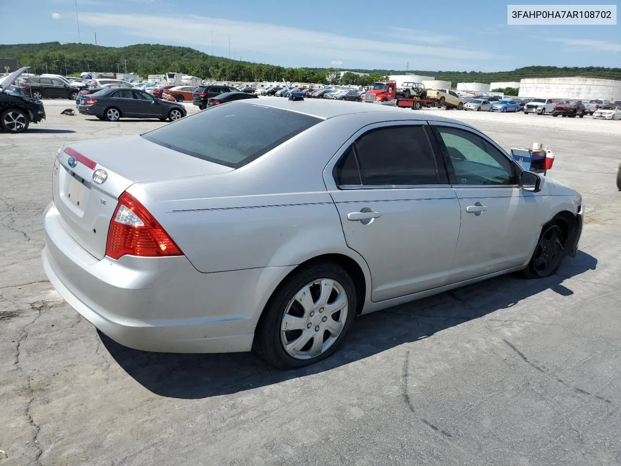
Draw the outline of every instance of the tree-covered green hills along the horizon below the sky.
[[[147,75],[180,71],[201,78],[230,81],[298,81],[319,83],[337,81],[326,68],[283,68],[263,63],[241,62],[214,57],[189,47],[172,45],[137,44],[127,47],[102,47],[88,43],[22,43],[0,45],[1,58],[14,58],[20,66],[33,66],[37,73],[45,72],[71,75],[82,71],[117,72],[125,69]],[[366,85],[383,75],[404,74],[404,70],[350,70],[372,73],[370,77],[348,75],[350,84]],[[555,66],[527,66],[513,71],[483,73],[481,71],[418,71],[408,73],[435,76],[437,80],[456,83],[489,83],[491,81],[519,81],[521,78],[552,78],[561,76],[589,76],[621,80],[621,68],[588,66],[586,68],[556,68]]]

